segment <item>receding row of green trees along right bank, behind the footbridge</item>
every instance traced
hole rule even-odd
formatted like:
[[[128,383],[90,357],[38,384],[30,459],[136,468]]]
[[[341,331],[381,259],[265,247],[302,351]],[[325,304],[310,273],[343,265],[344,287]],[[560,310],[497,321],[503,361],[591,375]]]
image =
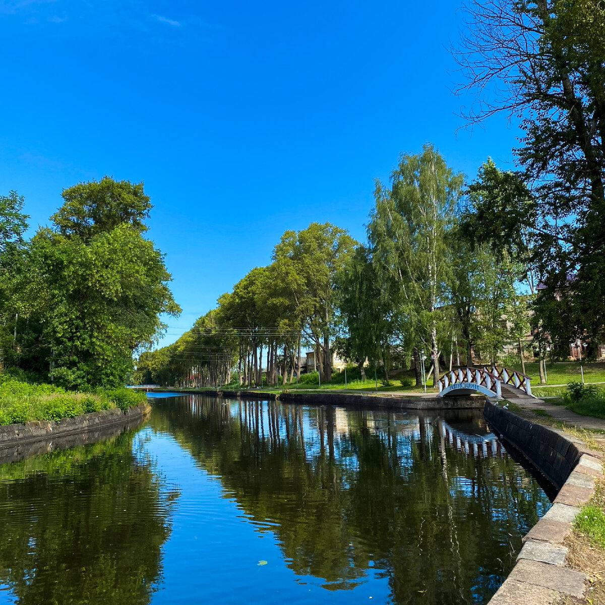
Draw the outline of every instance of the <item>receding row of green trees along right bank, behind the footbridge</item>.
[[[217,309],[169,347],[139,358],[139,378],[163,384],[276,384],[299,378],[301,347],[332,378],[332,352],[388,379],[394,366],[419,370],[422,352],[450,365],[480,355],[495,362],[529,332],[531,265],[477,242],[469,223],[488,192],[511,178],[488,161],[463,199],[463,177],[432,146],[402,155],[390,186],[376,184],[368,241],[332,224],[287,231],[267,267],[256,267],[218,299]],[[266,358],[264,357],[266,355]],[[417,373],[420,381],[420,371]]]

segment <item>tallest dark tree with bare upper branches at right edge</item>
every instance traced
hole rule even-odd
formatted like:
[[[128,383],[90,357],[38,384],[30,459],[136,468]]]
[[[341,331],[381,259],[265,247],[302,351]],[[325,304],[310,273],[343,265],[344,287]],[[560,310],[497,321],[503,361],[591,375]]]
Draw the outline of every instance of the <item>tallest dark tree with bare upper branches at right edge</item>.
[[[471,0],[457,54],[476,93],[471,121],[520,118],[517,157],[532,197],[506,209],[535,236],[545,289],[541,341],[563,352],[605,338],[605,7],[599,0]],[[492,216],[494,216],[492,214]],[[559,321],[561,313],[565,321]]]

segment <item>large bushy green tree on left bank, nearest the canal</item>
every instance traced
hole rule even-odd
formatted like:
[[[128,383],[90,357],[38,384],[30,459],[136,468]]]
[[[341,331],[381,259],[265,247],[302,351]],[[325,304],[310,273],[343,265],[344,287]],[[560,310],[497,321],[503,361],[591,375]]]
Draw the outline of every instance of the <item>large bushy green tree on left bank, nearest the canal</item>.
[[[180,312],[162,253],[142,237],[142,184],[114,185],[105,177],[65,190],[56,229],[31,241],[41,344],[52,378],[68,387],[123,383],[132,354],[161,332],[159,315]]]

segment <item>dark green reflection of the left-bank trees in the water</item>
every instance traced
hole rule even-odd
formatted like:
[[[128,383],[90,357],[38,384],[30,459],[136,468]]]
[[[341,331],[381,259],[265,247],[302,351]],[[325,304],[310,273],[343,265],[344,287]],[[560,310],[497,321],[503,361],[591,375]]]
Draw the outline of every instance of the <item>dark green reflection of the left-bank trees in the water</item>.
[[[0,466],[2,602],[149,603],[178,494],[133,439]]]

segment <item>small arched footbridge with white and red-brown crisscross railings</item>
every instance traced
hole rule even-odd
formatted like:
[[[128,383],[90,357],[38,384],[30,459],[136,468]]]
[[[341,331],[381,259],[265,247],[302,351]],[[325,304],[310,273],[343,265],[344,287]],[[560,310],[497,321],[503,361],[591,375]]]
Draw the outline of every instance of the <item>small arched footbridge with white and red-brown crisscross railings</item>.
[[[440,397],[468,395],[474,392],[497,399],[534,397],[529,376],[497,365],[451,370],[443,374],[437,384]]]

